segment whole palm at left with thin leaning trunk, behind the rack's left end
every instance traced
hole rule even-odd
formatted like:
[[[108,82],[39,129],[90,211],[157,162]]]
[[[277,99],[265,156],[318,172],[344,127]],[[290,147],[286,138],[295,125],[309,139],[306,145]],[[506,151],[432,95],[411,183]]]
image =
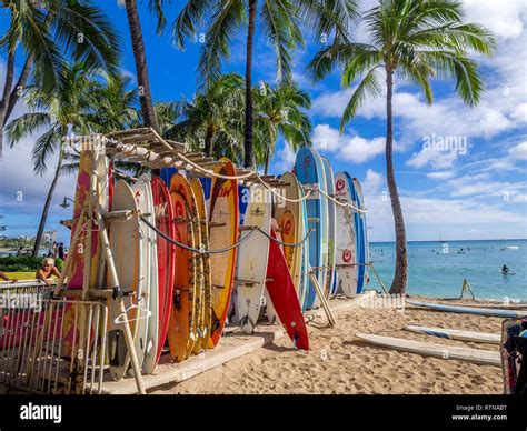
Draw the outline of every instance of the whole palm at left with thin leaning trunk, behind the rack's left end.
[[[46,128],[36,141],[32,150],[34,172],[42,176],[48,169],[48,159],[58,152],[54,176],[42,209],[33,255],[38,255],[49,207],[61,172],[77,168],[74,162],[64,164],[67,160],[78,159],[72,149],[67,147],[64,137],[69,128],[78,134],[92,131],[106,132],[115,124],[130,123],[136,120],[136,111],[125,104],[133,102],[133,93],[123,91],[125,81],[118,77],[107,78],[106,87],[93,81],[93,76],[81,62],[67,66],[60,89],[53,92],[43,91],[39,87],[29,87],[24,101],[30,107],[29,113],[12,120],[6,127],[10,146],[14,146],[23,137]],[[118,90],[120,89],[120,91]]]

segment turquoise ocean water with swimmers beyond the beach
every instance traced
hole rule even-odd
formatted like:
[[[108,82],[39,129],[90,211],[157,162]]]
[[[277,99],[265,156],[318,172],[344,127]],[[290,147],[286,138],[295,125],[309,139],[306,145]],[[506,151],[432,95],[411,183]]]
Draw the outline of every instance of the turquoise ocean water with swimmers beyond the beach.
[[[389,289],[395,243],[371,242],[370,261]],[[503,275],[504,264],[515,274]],[[408,265],[409,294],[459,297],[467,279],[476,298],[527,301],[527,240],[409,242]],[[369,278],[367,289],[381,290],[372,271]]]

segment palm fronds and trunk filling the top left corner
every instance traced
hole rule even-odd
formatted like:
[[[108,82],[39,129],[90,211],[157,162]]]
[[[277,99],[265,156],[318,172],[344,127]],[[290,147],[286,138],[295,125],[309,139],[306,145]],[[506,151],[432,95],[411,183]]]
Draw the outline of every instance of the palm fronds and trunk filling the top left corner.
[[[6,50],[7,73],[0,101],[0,156],[3,128],[23,93],[28,80],[47,91],[62,86],[66,58],[82,61],[89,70],[102,68],[115,73],[119,59],[119,38],[108,18],[89,1],[3,0],[0,8],[10,11],[10,26],[0,38]],[[16,52],[26,62],[14,82]]]

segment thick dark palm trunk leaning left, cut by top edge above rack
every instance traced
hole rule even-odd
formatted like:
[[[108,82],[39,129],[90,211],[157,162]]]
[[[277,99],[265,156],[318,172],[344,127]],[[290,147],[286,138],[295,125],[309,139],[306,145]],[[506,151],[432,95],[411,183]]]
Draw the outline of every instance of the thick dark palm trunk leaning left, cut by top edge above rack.
[[[137,81],[139,84],[139,102],[141,104],[142,118],[146,127],[157,129],[156,117],[153,114],[152,93],[150,91],[150,79],[148,77],[147,54],[142,40],[141,23],[137,12],[136,0],[126,0],[128,26],[136,59]]]

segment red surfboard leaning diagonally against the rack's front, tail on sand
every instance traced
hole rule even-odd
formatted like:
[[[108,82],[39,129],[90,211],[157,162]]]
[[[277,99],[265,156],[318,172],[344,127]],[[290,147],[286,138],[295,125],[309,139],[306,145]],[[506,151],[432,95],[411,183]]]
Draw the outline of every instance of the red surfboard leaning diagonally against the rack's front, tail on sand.
[[[271,237],[277,239],[275,229],[271,229]],[[298,302],[295,283],[287,268],[284,252],[280,245],[275,241],[269,241],[268,262],[267,279],[269,279],[269,281],[266,282],[266,287],[272,307],[285,327],[287,334],[295,343],[295,347],[309,350],[307,327],[304,321],[300,302]]]

